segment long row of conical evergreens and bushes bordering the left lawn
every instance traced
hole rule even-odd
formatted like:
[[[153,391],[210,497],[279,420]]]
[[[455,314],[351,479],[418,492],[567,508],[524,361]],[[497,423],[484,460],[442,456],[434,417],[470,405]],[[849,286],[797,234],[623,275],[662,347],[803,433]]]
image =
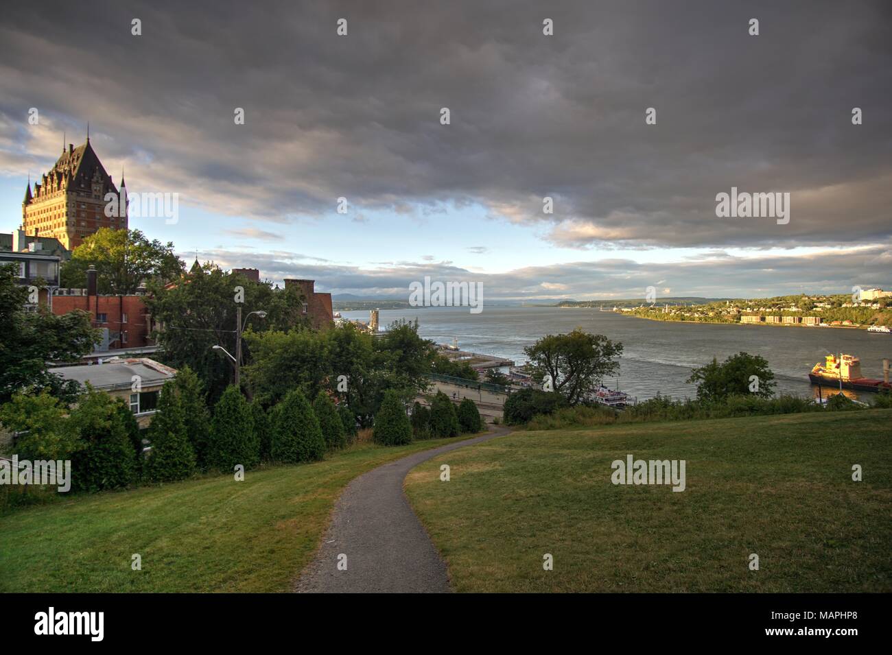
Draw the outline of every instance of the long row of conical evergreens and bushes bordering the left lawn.
[[[211,413],[188,367],[161,389],[145,434],[123,399],[90,387],[71,407],[46,393],[17,395],[0,409],[0,422],[22,433],[14,445],[20,460],[70,460],[74,491],[231,472],[239,464],[248,470],[261,461],[318,460],[357,432],[353,413],[321,391],[310,404],[295,389],[267,411],[231,386]]]

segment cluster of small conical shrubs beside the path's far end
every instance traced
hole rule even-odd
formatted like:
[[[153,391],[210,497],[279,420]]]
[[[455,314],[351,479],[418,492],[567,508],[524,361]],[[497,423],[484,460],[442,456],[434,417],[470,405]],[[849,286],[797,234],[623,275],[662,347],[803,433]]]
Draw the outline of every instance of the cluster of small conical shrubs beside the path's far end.
[[[373,439],[384,446],[408,444],[412,438],[446,438],[474,434],[483,430],[483,419],[477,405],[465,398],[456,409],[450,398],[438,391],[430,408],[416,401],[411,417],[406,415],[395,391],[384,394],[381,411],[375,417]]]

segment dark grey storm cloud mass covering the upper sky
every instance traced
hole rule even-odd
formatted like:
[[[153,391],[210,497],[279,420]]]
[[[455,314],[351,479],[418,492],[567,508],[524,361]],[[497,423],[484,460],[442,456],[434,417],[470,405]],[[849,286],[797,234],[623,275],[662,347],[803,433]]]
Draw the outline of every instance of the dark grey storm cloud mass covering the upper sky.
[[[57,145],[21,153],[89,119],[103,160],[127,160],[140,185],[245,216],[313,216],[345,196],[359,216],[479,202],[578,248],[881,242],[888,6],[16,3],[0,29],[0,167],[45,165]],[[52,138],[25,123],[30,107]],[[715,217],[731,186],[789,192],[789,225]]]

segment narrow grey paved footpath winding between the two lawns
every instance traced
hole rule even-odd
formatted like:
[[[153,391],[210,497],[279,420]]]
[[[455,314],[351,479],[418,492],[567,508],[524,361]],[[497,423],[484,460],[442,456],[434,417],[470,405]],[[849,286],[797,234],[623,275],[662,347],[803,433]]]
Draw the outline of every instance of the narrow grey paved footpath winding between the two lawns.
[[[294,586],[298,593],[448,593],[446,562],[437,553],[402,489],[409,471],[450,450],[511,430],[490,426],[457,441],[379,466],[351,481],[335,504],[322,547]],[[344,561],[346,570],[338,569]],[[343,564],[342,564],[343,568]]]

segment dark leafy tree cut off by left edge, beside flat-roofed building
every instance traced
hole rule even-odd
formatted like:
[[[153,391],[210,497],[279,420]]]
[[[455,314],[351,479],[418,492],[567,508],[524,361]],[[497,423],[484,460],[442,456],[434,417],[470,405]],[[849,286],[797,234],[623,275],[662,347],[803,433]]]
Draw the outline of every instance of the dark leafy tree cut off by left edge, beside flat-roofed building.
[[[87,355],[100,331],[91,326],[87,312],[57,316],[42,306],[26,310],[29,289],[15,280],[14,266],[0,266],[0,404],[28,389],[47,389],[70,402],[80,391],[78,383],[63,382],[46,363]]]

